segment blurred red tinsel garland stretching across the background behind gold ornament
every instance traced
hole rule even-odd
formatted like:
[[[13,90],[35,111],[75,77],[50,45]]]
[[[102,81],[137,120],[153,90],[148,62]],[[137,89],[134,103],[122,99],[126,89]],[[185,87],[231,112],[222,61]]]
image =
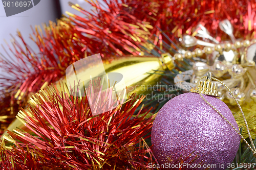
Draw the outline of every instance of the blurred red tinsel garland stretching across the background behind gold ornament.
[[[81,16],[70,14],[55,23],[33,31],[31,38],[37,44],[39,53],[33,52],[24,42],[25,49],[16,41],[12,55],[18,62],[3,58],[1,67],[6,70],[0,76],[2,131],[7,128],[20,107],[25,107],[30,95],[41,87],[56,82],[64,74],[68,65],[87,55],[100,53],[102,57],[125,54],[140,54],[140,45],[148,38],[158,43],[165,37],[157,27],[175,41],[182,34],[193,34],[200,22],[213,36],[227,38],[218,29],[220,20],[229,19],[234,26],[234,35],[255,37],[255,1],[103,1],[108,9],[101,8],[99,2],[90,3],[94,13],[70,3]],[[161,40],[159,41],[161,42]],[[177,41],[176,41],[177,42]],[[32,67],[31,67],[32,66]],[[16,95],[15,95],[16,94]]]

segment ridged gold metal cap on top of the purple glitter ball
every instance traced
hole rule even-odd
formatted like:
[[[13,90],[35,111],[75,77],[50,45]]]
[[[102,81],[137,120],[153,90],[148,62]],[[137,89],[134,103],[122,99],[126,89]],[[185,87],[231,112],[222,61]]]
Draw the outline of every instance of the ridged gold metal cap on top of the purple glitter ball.
[[[200,81],[199,87],[193,92],[201,92],[207,95],[213,95],[216,97],[221,97],[218,93],[218,84],[211,81],[211,72],[207,72],[206,81]]]

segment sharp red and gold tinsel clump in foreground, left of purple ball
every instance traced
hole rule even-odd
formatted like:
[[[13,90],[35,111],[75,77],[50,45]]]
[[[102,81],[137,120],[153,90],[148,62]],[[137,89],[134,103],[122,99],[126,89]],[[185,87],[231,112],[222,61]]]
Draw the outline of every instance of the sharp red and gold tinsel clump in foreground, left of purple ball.
[[[104,93],[99,95],[102,97]],[[28,109],[20,110],[17,115],[27,129],[8,131],[1,141],[0,167],[141,169],[148,162],[156,164],[145,142],[150,137],[147,134],[154,116],[145,118],[148,110],[131,118],[143,99],[132,95],[125,104],[93,116],[91,99],[71,96],[63,82],[47,86],[33,96]]]

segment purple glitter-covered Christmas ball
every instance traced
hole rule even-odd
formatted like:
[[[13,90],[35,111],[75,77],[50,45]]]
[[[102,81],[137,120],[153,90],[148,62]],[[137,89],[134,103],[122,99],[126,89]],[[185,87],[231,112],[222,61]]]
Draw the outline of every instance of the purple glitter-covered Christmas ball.
[[[214,96],[203,96],[239,130],[224,102]],[[183,160],[185,169],[226,169],[240,143],[239,134],[226,120],[198,93],[191,92],[176,96],[161,108],[151,135],[158,162],[174,167]]]

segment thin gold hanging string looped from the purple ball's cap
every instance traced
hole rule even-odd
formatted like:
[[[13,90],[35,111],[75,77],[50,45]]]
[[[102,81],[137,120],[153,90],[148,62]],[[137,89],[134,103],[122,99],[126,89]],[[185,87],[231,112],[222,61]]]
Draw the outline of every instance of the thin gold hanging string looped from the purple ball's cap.
[[[244,142],[248,145],[249,149],[252,151],[253,155],[256,156],[256,149],[255,149],[255,146],[253,144],[253,141],[252,141],[252,138],[251,138],[251,135],[250,135],[250,131],[249,131],[249,128],[248,128],[248,124],[247,124],[247,121],[246,121],[246,118],[245,118],[245,115],[244,115],[244,112],[238,102],[238,100],[236,99],[236,97],[234,96],[234,94],[232,93],[232,91],[220,80],[216,79],[216,78],[211,78],[212,80],[215,80],[215,81],[218,81],[219,83],[221,83],[229,92],[230,94],[233,96],[233,99],[236,101],[242,115],[243,115],[243,118],[244,118],[244,122],[245,122],[245,126],[246,126],[246,129],[247,129],[247,132],[248,132],[248,135],[249,135],[249,138],[250,138],[250,141],[251,141],[251,145],[252,145],[252,148],[250,146],[250,144],[245,140],[245,138],[240,134],[240,132],[237,130],[237,128],[235,128],[229,121],[228,119],[226,119],[226,117],[224,117],[214,106],[212,106],[208,101],[206,101],[202,95],[202,93],[200,92],[199,90],[199,83],[202,79],[206,78],[206,76],[202,77],[201,79],[198,80],[197,82],[197,92],[200,94],[201,98],[212,108],[214,109],[222,118],[224,118],[226,120],[226,122],[239,134],[239,136],[244,140]]]

